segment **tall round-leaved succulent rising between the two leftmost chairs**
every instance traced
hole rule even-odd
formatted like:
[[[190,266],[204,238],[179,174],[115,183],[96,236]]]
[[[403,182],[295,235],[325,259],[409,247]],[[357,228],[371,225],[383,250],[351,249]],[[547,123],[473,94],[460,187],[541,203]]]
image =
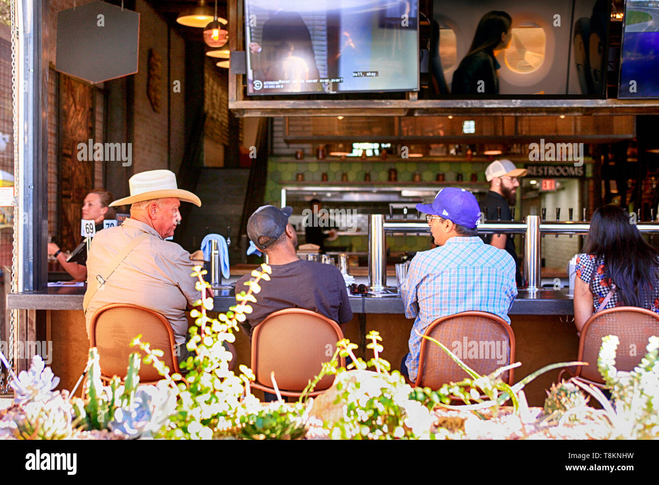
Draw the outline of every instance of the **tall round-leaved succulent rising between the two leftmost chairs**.
[[[139,336],[134,339],[133,344],[140,346],[147,354],[144,362],[154,365],[178,395],[175,413],[160,430],[159,436],[170,439],[233,436],[246,424],[246,416],[258,414],[258,399],[248,391],[254,374],[246,366],[240,366],[240,375],[229,371],[231,353],[223,342],[235,341],[233,331],[238,331],[238,324],[246,319],[245,314],[252,312],[249,304],[256,302],[254,294],[260,292],[260,280],[269,281],[270,273],[268,265],[262,265],[262,271],[252,271],[254,279],[245,283],[248,291],[236,295],[239,304],[213,319],[206,313],[213,308],[213,299],[206,297],[206,288],[210,288],[203,278],[206,271],[200,266],[194,267],[192,276],[197,278],[195,287],[202,296],[196,306],[201,307],[201,311],[193,309],[190,312],[196,320],[194,327],[190,328],[186,346],[188,350],[194,350],[195,355],[181,363],[181,368],[188,371],[185,381],[181,374],[169,375],[169,368],[159,360],[162,354],[158,350],[152,350],[146,342],[141,342]],[[243,397],[243,394],[246,395]]]

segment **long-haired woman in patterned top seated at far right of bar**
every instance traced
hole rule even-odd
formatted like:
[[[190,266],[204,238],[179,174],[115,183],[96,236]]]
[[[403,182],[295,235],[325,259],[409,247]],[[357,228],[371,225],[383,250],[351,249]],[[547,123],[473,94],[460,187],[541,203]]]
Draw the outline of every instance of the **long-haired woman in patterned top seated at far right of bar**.
[[[575,278],[578,331],[604,308],[635,306],[659,313],[659,252],[631,224],[627,210],[615,205],[597,209],[583,250]]]

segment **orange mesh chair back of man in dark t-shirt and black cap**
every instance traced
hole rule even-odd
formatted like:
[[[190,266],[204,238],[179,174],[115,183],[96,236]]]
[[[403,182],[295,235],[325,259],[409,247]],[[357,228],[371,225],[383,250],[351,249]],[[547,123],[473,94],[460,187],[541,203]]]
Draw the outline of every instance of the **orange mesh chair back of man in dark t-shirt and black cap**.
[[[256,376],[253,387],[275,393],[270,373],[283,396],[299,396],[310,380],[329,362],[336,350],[336,342],[343,332],[333,320],[315,311],[286,308],[270,313],[254,327],[252,334],[252,372]],[[341,357],[341,366],[345,359]],[[326,375],[310,395],[329,389],[334,375]]]

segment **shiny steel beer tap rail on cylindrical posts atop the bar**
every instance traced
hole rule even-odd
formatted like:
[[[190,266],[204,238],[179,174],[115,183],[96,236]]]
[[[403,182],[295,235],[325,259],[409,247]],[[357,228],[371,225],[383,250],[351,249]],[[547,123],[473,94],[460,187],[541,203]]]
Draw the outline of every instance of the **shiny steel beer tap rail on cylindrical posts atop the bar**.
[[[590,222],[586,220],[586,209],[582,210],[583,220],[575,222],[573,218],[573,209],[569,208],[569,220],[561,222],[560,209],[556,209],[556,222],[546,221],[546,208],[542,208],[542,220],[540,216],[529,215],[524,221],[505,221],[500,222],[501,209],[497,210],[496,222],[488,220],[485,214],[486,222],[478,224],[478,234],[524,234],[524,258],[523,268],[524,276],[527,279],[527,286],[523,288],[530,293],[540,290],[540,238],[546,234],[569,234],[570,237],[577,234],[585,236],[590,229]],[[425,220],[393,219],[391,216],[385,219],[383,214],[372,214],[368,220],[368,286],[369,291],[374,296],[384,296],[387,292],[387,272],[386,272],[386,233],[403,232],[403,233],[430,233],[430,227]],[[419,216],[420,214],[418,214]],[[637,228],[642,234],[659,234],[659,222],[654,219],[654,210],[651,211],[651,221],[639,222]],[[515,214],[513,212],[513,218]],[[631,223],[631,222],[630,222]]]

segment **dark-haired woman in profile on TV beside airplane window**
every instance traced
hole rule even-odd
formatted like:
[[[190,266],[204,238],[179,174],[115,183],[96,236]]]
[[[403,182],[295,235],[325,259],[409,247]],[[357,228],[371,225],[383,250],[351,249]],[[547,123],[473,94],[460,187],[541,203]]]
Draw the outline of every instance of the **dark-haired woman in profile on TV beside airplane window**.
[[[511,23],[510,15],[500,10],[482,16],[469,53],[453,73],[452,94],[499,94],[496,71],[501,65],[494,57],[494,51],[507,49],[512,38]]]

